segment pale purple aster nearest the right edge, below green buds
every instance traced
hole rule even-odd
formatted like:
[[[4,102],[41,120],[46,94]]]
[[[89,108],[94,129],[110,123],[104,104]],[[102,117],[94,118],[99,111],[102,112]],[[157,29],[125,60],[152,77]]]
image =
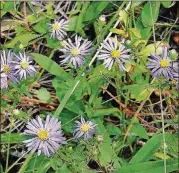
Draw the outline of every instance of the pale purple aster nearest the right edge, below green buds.
[[[164,46],[162,48],[162,55],[151,53],[149,58],[149,64],[147,68],[151,70],[153,77],[159,78],[163,76],[167,80],[173,79],[173,67],[172,61],[168,57],[168,48]]]

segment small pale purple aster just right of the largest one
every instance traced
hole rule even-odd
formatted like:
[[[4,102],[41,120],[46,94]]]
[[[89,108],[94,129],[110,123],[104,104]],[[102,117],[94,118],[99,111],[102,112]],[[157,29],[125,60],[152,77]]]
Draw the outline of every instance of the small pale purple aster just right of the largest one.
[[[81,116],[81,122],[75,121],[75,130],[73,131],[74,139],[79,139],[84,136],[84,140],[88,140],[96,133],[95,127],[97,124],[94,124],[91,121],[85,121],[85,119]]]

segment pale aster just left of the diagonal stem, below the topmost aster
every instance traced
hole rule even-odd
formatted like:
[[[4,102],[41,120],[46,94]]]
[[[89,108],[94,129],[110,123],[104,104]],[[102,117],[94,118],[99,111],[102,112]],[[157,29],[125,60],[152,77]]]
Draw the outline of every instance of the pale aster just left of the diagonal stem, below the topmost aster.
[[[85,56],[90,54],[92,42],[76,35],[74,43],[68,39],[67,42],[64,41],[64,44],[64,48],[60,49],[65,54],[60,56],[60,58],[64,58],[61,63],[72,63],[74,68],[81,67],[85,62]]]

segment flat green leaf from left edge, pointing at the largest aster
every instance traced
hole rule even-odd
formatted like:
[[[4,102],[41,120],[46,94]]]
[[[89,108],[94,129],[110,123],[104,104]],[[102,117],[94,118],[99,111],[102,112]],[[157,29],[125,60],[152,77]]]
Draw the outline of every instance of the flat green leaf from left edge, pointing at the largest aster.
[[[27,135],[22,135],[19,133],[4,133],[1,134],[1,144],[20,144],[22,141],[29,139]]]

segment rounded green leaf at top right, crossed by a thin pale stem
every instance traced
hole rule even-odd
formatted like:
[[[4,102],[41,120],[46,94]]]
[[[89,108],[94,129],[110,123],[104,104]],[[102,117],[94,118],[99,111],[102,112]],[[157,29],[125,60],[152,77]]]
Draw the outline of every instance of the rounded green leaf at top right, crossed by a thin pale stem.
[[[153,26],[158,19],[160,2],[147,2],[142,10],[141,19],[144,26]]]

